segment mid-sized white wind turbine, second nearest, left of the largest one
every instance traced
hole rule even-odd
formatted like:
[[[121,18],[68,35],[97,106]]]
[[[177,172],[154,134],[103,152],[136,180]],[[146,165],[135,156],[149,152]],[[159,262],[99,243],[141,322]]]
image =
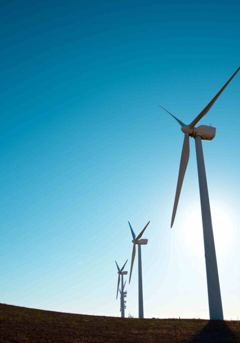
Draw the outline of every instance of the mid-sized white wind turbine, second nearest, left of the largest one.
[[[130,270],[130,278],[129,278],[129,283],[131,281],[131,276],[132,276],[132,271],[133,271],[133,266],[134,266],[134,259],[136,255],[136,244],[138,245],[138,257],[139,257],[139,318],[143,318],[143,278],[142,278],[142,256],[141,256],[141,245],[146,245],[148,244],[148,240],[140,240],[140,238],[143,236],[143,233],[145,232],[148,224],[150,221],[147,223],[147,225],[143,228],[141,233],[136,237],[133,228],[129,222],[129,226],[131,229],[131,233],[133,236],[133,254],[132,254],[132,262],[131,262],[131,270]]]

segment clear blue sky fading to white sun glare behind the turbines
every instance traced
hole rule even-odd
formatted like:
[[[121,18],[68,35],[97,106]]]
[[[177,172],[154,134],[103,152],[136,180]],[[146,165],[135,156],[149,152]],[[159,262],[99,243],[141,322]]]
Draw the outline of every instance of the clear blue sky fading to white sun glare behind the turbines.
[[[1,2],[1,302],[118,316],[114,260],[148,220],[146,317],[208,317],[194,142],[239,66],[239,2]],[[225,318],[240,317],[239,85],[202,120]],[[145,238],[144,237],[144,238]],[[138,314],[137,264],[127,313]]]

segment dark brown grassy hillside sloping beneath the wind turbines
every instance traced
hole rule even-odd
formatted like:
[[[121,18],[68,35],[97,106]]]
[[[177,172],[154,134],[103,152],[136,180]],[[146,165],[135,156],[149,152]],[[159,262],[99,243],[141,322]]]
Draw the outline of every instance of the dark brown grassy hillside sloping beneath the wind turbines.
[[[240,342],[239,321],[135,319],[0,304],[1,342]]]

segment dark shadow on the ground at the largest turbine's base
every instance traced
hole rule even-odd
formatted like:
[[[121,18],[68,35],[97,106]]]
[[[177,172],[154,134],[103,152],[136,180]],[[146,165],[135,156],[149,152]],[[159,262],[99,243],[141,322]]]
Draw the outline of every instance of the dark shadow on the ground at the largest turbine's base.
[[[196,342],[237,342],[239,341],[225,321],[211,320],[190,341]]]

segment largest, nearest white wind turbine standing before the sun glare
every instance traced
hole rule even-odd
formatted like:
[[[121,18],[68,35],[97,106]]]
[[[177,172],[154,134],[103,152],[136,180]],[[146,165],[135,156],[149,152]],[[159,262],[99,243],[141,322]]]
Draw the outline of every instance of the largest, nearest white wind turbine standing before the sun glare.
[[[211,320],[223,320],[222,303],[220,285],[217,271],[217,260],[215,253],[214,237],[212,231],[211,211],[207,190],[206,172],[204,166],[204,158],[202,151],[202,140],[211,141],[215,137],[216,128],[211,126],[195,125],[206,115],[211,106],[214,104],[218,96],[223,92],[228,83],[233,79],[240,67],[234,72],[214,98],[206,105],[205,108],[199,113],[199,115],[189,124],[185,125],[175,116],[173,116],[168,110],[166,110],[181,126],[181,130],[184,133],[184,141],[182,148],[182,155],[180,160],[179,174],[176,195],[173,206],[171,227],[175,219],[178,200],[182,188],[182,183],[185,175],[185,171],[189,159],[189,137],[195,139],[196,156],[197,156],[197,170],[198,170],[198,182],[200,190],[200,201],[201,201],[201,212],[202,212],[202,226],[203,226],[203,239],[204,239],[204,250],[205,250],[205,263],[206,263],[206,274],[207,274],[207,292],[208,292],[208,305],[209,315]]]

